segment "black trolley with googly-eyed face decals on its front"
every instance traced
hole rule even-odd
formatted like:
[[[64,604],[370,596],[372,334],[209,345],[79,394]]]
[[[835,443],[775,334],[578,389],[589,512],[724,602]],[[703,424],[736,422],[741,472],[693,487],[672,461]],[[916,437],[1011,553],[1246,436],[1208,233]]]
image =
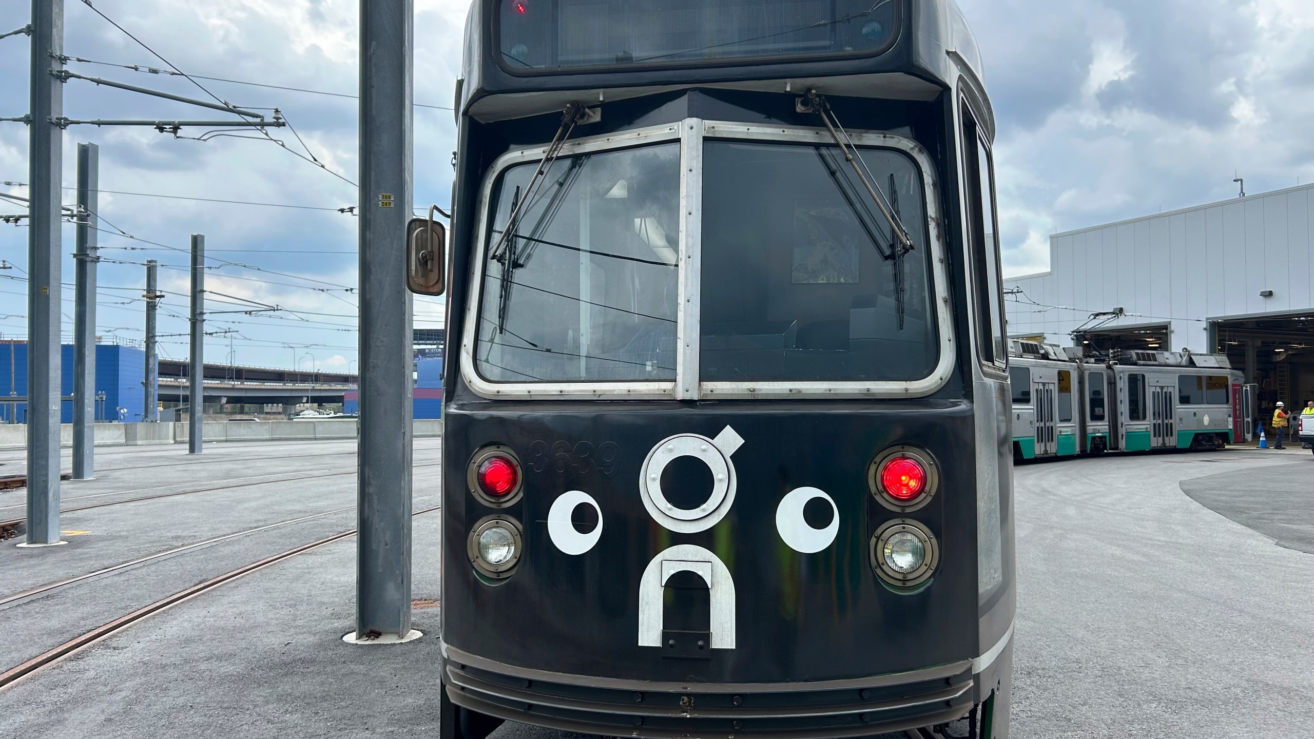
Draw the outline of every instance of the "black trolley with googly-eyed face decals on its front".
[[[480,0],[456,103],[451,254],[409,231],[455,359],[444,739],[1007,736],[995,124],[958,8]]]

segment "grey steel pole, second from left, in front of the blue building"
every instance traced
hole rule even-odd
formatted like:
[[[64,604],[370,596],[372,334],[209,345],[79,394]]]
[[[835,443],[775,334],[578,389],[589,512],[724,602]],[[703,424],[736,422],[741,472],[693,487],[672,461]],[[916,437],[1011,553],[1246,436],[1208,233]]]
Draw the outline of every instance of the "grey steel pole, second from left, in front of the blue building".
[[[96,476],[96,224],[100,147],[78,145],[76,275],[74,277],[74,480]]]

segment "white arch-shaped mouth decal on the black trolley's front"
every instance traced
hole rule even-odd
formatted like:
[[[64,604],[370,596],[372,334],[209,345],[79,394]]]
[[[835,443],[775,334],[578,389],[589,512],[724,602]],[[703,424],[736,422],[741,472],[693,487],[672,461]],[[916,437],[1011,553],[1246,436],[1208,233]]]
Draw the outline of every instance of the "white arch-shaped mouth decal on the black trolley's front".
[[[661,647],[662,588],[677,572],[696,572],[711,590],[714,650],[735,648],[735,579],[725,563],[696,544],[675,544],[648,563],[639,580],[639,646]]]

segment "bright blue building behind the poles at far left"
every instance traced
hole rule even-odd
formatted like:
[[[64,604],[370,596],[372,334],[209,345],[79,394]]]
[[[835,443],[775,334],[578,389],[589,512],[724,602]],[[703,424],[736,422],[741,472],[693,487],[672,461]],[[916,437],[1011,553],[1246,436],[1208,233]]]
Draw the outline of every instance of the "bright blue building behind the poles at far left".
[[[74,394],[74,347],[64,345],[60,351],[60,394]],[[96,345],[96,394],[105,393],[105,400],[96,401],[96,421],[141,421],[145,413],[146,352],[130,346]],[[9,418],[11,404],[4,402],[8,394],[28,394],[28,343],[0,343],[0,422],[24,423],[28,419],[28,404],[16,404],[14,418]],[[72,401],[60,404],[60,421],[74,422]]]

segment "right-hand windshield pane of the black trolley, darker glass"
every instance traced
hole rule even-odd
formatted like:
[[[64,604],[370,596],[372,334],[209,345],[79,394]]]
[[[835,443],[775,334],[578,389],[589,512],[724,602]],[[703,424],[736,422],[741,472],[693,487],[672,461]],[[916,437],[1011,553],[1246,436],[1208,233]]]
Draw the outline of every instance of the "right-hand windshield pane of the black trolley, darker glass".
[[[916,163],[859,150],[901,251],[834,146],[707,142],[702,380],[911,381],[940,358]]]

